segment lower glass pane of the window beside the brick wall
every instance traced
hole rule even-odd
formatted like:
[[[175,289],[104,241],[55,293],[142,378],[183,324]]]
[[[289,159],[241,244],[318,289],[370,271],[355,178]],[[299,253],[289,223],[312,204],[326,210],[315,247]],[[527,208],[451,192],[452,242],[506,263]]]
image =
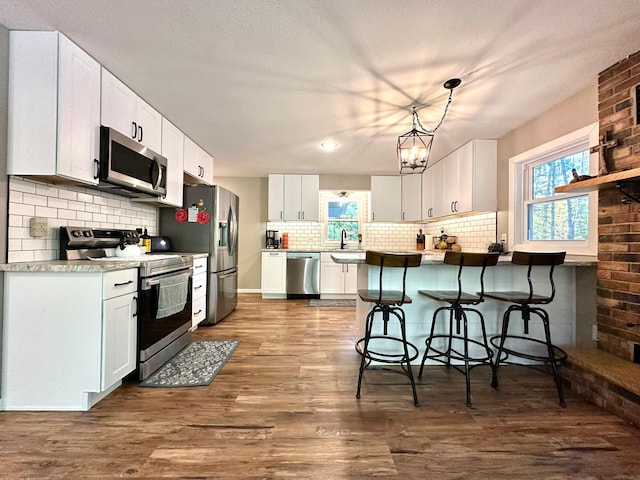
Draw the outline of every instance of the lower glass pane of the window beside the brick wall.
[[[528,240],[586,240],[589,234],[588,196],[528,206]]]

